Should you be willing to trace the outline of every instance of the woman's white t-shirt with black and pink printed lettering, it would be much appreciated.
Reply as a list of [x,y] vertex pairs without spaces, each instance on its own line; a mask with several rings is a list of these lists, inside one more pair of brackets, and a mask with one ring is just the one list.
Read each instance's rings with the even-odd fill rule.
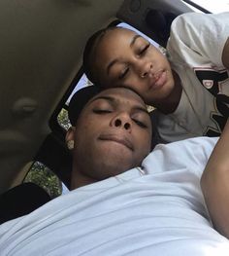
[[229,115],[218,97],[226,95],[229,103],[229,72],[221,60],[228,37],[229,13],[188,13],[173,21],[167,51],[183,91],[173,114],[157,112],[163,142],[221,133]]

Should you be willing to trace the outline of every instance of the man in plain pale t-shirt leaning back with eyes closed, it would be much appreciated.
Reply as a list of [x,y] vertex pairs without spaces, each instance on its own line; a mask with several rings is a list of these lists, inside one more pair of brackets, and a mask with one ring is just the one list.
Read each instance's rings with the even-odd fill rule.
[[228,124],[148,154],[134,91],[82,89],[69,116],[71,192],[1,225],[0,255],[228,256]]

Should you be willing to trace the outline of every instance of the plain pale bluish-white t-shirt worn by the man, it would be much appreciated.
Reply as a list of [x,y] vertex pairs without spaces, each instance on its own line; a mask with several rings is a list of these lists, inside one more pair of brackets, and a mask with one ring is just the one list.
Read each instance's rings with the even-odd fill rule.
[[228,256],[200,177],[216,138],[158,145],[118,176],[83,186],[0,226],[0,255]]

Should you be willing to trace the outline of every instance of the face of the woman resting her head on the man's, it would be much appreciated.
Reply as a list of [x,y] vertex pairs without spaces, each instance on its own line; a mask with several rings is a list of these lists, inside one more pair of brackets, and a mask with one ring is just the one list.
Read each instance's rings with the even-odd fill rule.
[[107,31],[93,54],[93,73],[105,88],[131,88],[151,105],[164,101],[174,89],[167,58],[131,30]]

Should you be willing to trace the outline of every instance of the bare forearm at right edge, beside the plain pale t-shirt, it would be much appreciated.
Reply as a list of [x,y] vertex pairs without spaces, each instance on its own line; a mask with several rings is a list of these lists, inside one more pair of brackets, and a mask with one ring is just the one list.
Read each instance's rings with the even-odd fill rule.
[[201,187],[214,228],[229,238],[229,121],[203,172]]

